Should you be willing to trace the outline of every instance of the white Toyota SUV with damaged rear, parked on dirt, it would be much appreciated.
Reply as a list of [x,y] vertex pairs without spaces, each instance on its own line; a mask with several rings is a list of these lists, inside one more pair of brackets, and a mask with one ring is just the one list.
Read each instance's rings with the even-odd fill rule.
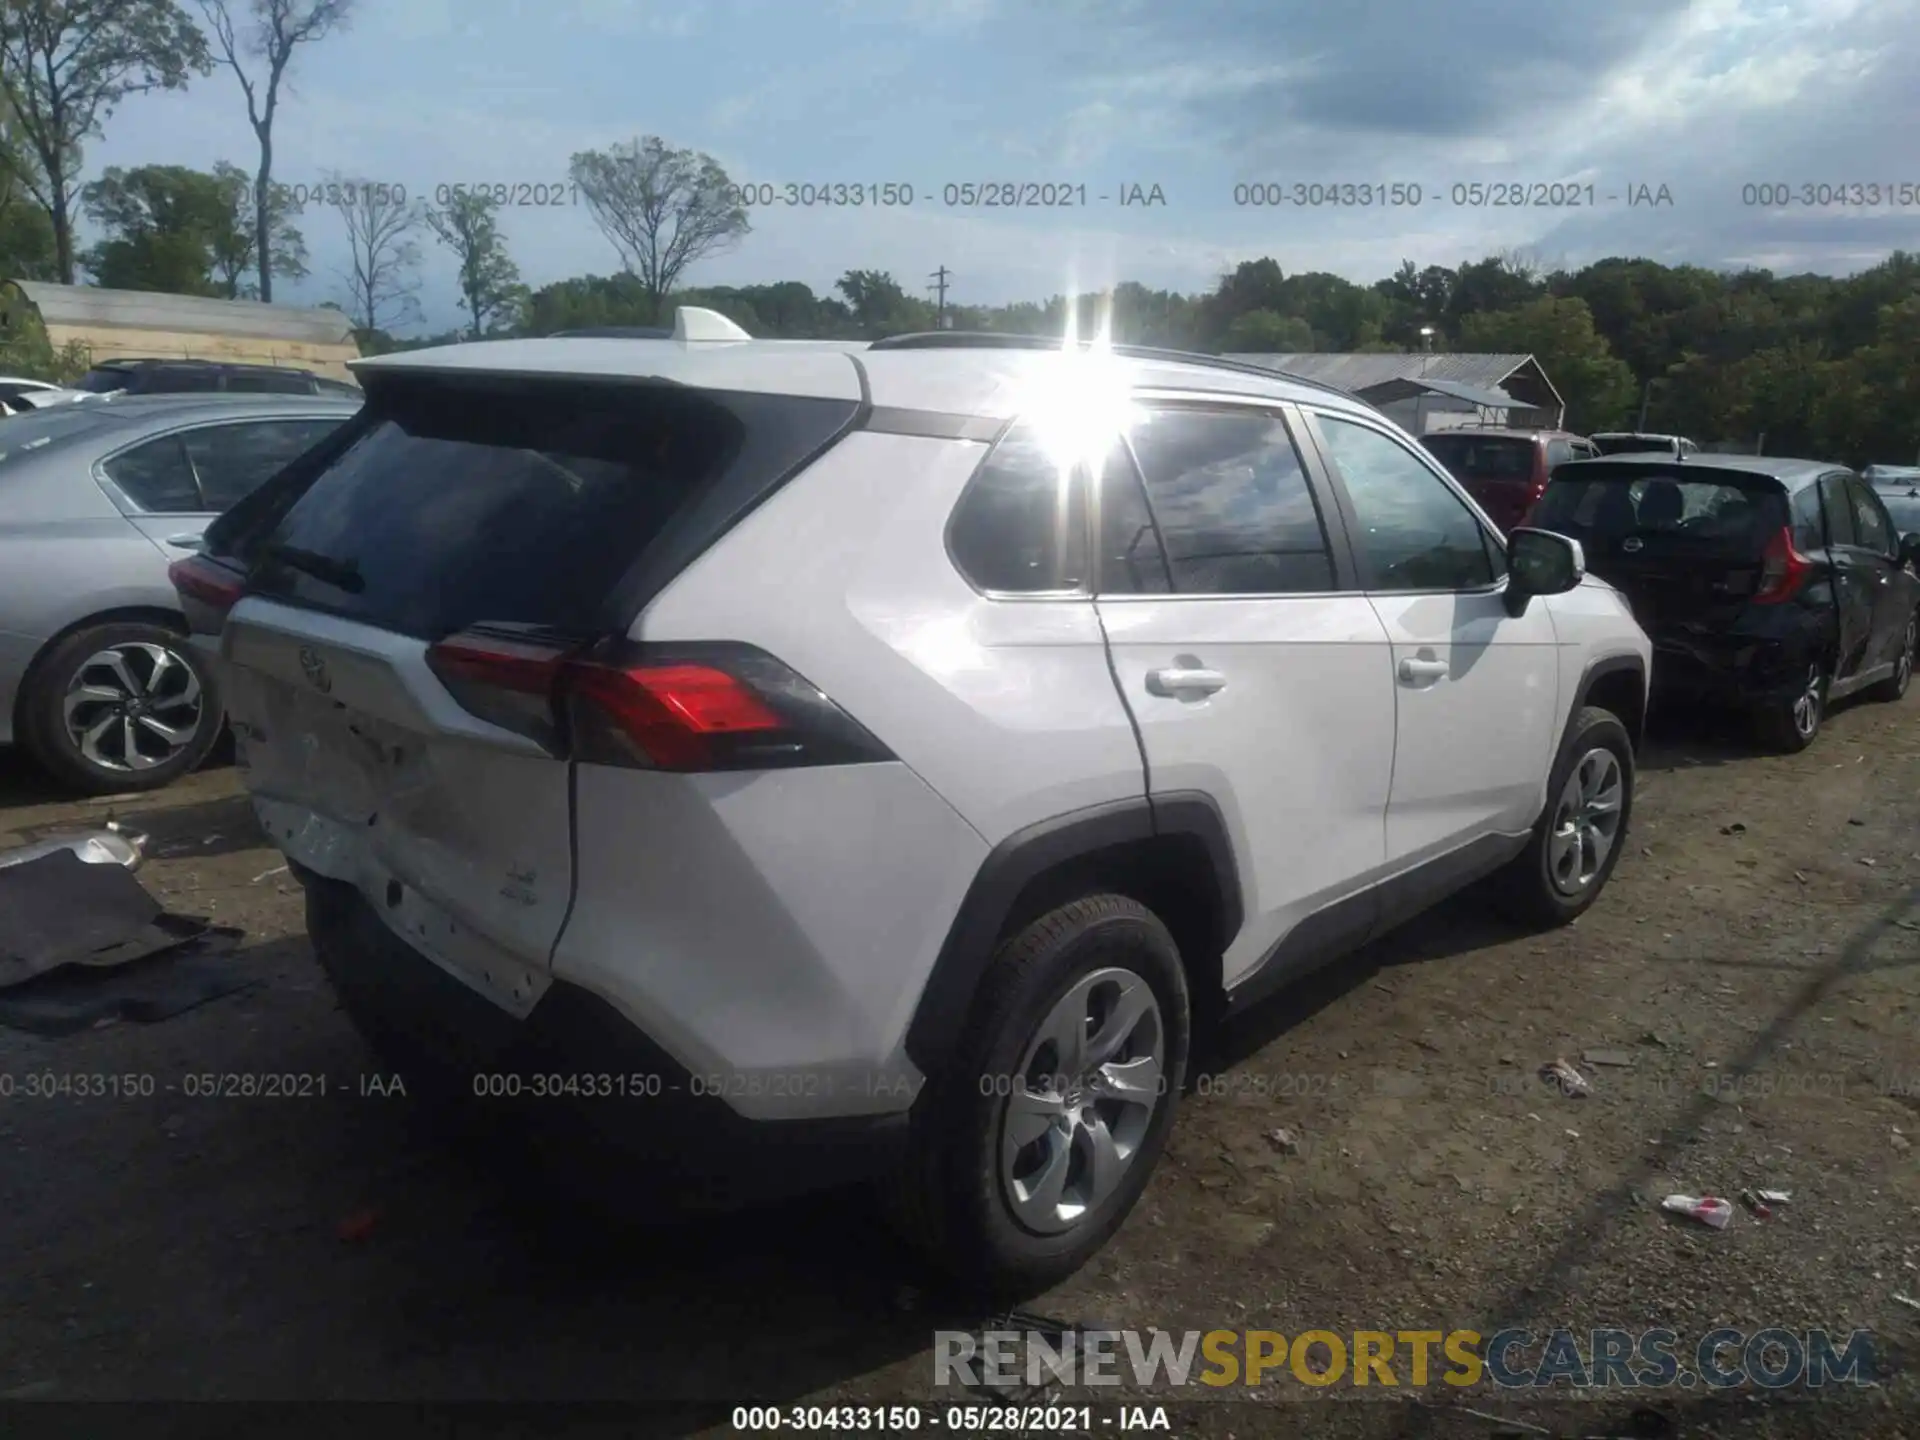
[[674,1202],[883,1175],[1031,1288],[1135,1204],[1196,1025],[1471,881],[1548,925],[1607,883],[1647,639],[1371,407],[701,332],[363,361],[175,566],[390,1062]]

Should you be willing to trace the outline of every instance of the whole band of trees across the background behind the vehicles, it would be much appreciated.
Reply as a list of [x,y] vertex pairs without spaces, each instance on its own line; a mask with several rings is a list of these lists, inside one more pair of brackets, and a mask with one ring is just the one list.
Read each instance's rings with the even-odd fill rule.
[[[486,188],[442,188],[428,205],[351,175],[284,186],[275,180],[284,81],[303,46],[346,29],[353,0],[194,4],[198,15],[179,0],[0,0],[0,276],[273,300],[275,278],[307,278],[301,227],[317,207],[334,211],[351,255],[330,303],[369,351],[662,324],[680,303],[770,338],[937,324],[931,301],[883,271],[851,269],[828,294],[799,280],[693,286],[691,273],[753,227],[718,161],[659,136],[572,156],[570,184],[618,267],[538,288],[522,282],[497,223],[501,196]],[[238,83],[257,140],[246,167],[84,179],[84,146],[127,98],[215,71]],[[92,244],[79,240],[83,217]],[[419,319],[422,240],[451,253],[467,319],[451,334],[399,340]],[[1764,438],[1768,453],[1855,465],[1920,457],[1920,257],[1905,252],[1845,278],[1632,257],[1546,271],[1490,255],[1404,261],[1373,284],[1254,259],[1204,294],[1125,282],[1100,296],[954,305],[947,319],[1018,334],[1098,324],[1116,342],[1215,353],[1530,353],[1576,430],[1644,420],[1707,444]],[[0,361],[56,365],[17,346]]]

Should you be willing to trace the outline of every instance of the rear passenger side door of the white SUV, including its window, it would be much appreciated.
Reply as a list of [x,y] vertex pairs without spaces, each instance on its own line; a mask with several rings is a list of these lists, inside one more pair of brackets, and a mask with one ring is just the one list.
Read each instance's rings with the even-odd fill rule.
[[[1386,632],[1296,424],[1284,405],[1150,401],[1131,436],[1139,474],[1121,455],[1096,499],[1096,605],[1150,791],[1215,797],[1240,860],[1229,985],[1386,860]],[[1336,914],[1344,939],[1371,927],[1365,902]]]

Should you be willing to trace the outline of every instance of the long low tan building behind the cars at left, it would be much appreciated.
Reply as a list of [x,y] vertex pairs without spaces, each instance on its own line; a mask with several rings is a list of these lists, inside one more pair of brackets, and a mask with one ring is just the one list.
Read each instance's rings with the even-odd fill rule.
[[83,344],[104,359],[207,359],[284,365],[349,380],[359,359],[353,323],[336,309],[261,305],[146,290],[100,290],[44,280],[0,284],[0,332],[29,321],[56,349]]

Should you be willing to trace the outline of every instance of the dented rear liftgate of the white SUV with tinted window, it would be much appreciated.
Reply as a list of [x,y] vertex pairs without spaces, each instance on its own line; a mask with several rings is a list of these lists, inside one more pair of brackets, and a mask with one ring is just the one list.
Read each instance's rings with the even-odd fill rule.
[[[849,374],[849,384],[852,376]],[[841,432],[856,399],[384,374],[351,445],[209,538],[255,806],[292,858],[520,1014],[572,893],[553,659],[612,597]],[[728,509],[735,507],[735,509]],[[712,528],[712,526],[710,526]]]

